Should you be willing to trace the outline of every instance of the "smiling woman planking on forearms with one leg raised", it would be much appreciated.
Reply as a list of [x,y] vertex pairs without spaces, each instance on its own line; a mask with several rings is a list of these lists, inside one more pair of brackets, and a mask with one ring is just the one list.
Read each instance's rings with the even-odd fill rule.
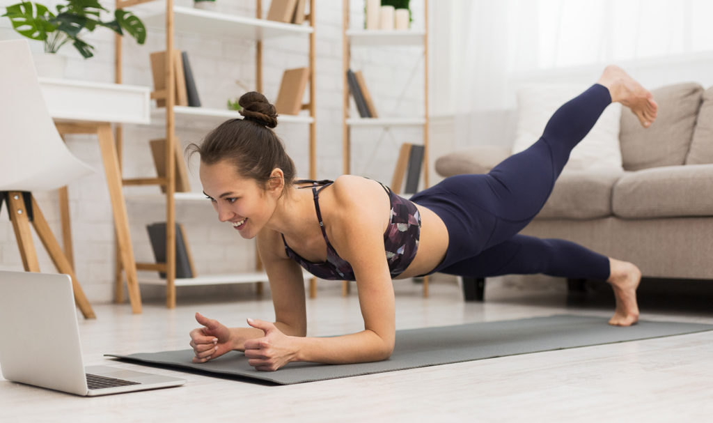
[[[294,164],[270,128],[275,108],[260,93],[240,98],[244,120],[222,123],[189,148],[200,153],[203,192],[221,222],[243,238],[257,237],[270,278],[276,322],[248,319],[228,328],[196,314],[190,332],[194,362],[245,351],[257,370],[288,362],[385,360],[394,349],[392,279],[444,272],[470,277],[545,273],[607,280],[616,297],[611,325],[637,322],[640,270],[565,240],[518,232],[547,200],[569,153],[608,104],[631,108],[643,126],[656,118],[651,93],[609,66],[595,85],[550,118],[542,138],[487,175],[457,175],[410,200],[352,175],[294,181]],[[389,210],[391,210],[389,212]],[[356,280],[364,330],[306,337],[300,265],[318,277]]]

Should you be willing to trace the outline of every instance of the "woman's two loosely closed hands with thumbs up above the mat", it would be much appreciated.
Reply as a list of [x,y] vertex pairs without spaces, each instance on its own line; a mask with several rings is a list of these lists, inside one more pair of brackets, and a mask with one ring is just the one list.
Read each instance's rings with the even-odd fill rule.
[[[200,313],[195,313],[195,320],[203,327],[190,332],[194,363],[205,363],[237,349],[240,341],[235,340],[230,328]],[[292,337],[284,335],[274,323],[247,319],[247,324],[264,332],[263,337],[243,342],[247,362],[255,370],[275,371],[294,360],[296,351],[292,348]]]

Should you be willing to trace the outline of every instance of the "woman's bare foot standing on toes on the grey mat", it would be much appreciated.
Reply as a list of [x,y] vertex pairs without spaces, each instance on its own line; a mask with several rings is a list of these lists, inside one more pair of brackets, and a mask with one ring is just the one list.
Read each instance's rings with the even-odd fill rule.
[[607,282],[612,285],[617,300],[614,317],[610,325],[631,326],[639,320],[639,306],[636,302],[636,288],[641,281],[641,270],[632,263],[609,259],[610,277]]

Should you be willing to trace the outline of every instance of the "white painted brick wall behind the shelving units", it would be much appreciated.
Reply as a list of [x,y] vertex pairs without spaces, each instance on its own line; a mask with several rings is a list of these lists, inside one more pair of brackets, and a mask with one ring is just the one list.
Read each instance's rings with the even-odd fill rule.
[[[0,6],[16,1],[0,1]],[[49,3],[49,2],[43,2]],[[113,1],[103,1],[112,6]],[[175,4],[190,6],[190,0],[176,0]],[[423,28],[421,1],[412,1],[414,26]],[[263,1],[267,14],[270,1]],[[254,16],[254,1],[217,0],[217,10],[226,14]],[[352,1],[352,26],[363,23],[363,3]],[[17,38],[7,29],[6,18],[0,19],[0,39]],[[67,46],[61,51],[68,57],[67,78],[89,81],[113,82],[113,33],[99,29],[86,36],[96,46],[95,57],[83,60]],[[151,31],[144,46],[133,40],[124,41],[123,79],[125,83],[151,86],[149,54],[163,50],[165,35]],[[210,39],[177,34],[177,49],[188,51],[190,64],[204,106],[223,108],[228,98],[237,98],[247,87],[255,86],[255,46],[241,40]],[[307,66],[307,37],[278,39],[264,43],[264,92],[274,101],[279,80],[285,68]],[[422,50],[352,49],[352,68],[361,69],[374,97],[376,108],[382,116],[419,116],[423,114],[423,57]],[[342,2],[317,0],[317,178],[336,178],[342,173]],[[394,78],[396,76],[396,78]],[[353,106],[352,106],[353,107]],[[352,113],[355,114],[355,111]],[[177,135],[183,146],[198,142],[210,127],[179,122]],[[307,177],[308,128],[299,124],[282,124],[277,128],[287,151],[297,165],[299,175]],[[148,141],[164,138],[163,123],[150,126],[124,126],[123,167],[125,178],[155,175]],[[391,181],[391,171],[399,144],[404,141],[421,142],[418,129],[373,129],[352,131],[352,173],[370,178]],[[99,172],[72,183],[70,205],[76,274],[91,302],[108,302],[113,297],[114,233],[111,204],[103,175],[103,166],[96,139],[91,136],[68,136],[68,147],[82,160],[95,166]],[[434,156],[431,156],[433,159]],[[192,190],[200,192],[198,168],[190,169]],[[128,187],[125,193],[158,193],[158,187]],[[38,193],[52,230],[60,234],[56,193]],[[145,225],[164,220],[164,205],[160,202],[128,202],[130,230],[135,256],[138,261],[153,261]],[[255,243],[243,240],[232,228],[217,222],[210,203],[179,203],[177,221],[185,225],[190,248],[198,273],[225,273],[251,270],[255,264]],[[36,238],[35,238],[36,239]],[[41,269],[54,271],[51,261],[43,252],[39,240]],[[14,233],[4,207],[0,213],[0,269],[21,270],[21,260],[16,248]],[[163,297],[163,289],[142,287],[145,298]],[[245,290],[246,287],[235,287]],[[179,290],[190,294],[207,291],[206,288]]]

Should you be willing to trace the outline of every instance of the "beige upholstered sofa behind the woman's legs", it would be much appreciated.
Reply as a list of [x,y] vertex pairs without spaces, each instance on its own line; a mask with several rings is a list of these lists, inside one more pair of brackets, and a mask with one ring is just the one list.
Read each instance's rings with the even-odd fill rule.
[[[622,108],[624,171],[568,171],[522,233],[572,240],[640,267],[644,277],[713,280],[713,87],[682,83],[652,91],[648,129]],[[487,173],[511,148],[481,147],[438,158],[443,176]],[[483,280],[464,281],[482,300]],[[573,287],[570,281],[570,287]],[[466,286],[477,283],[480,289]]]

